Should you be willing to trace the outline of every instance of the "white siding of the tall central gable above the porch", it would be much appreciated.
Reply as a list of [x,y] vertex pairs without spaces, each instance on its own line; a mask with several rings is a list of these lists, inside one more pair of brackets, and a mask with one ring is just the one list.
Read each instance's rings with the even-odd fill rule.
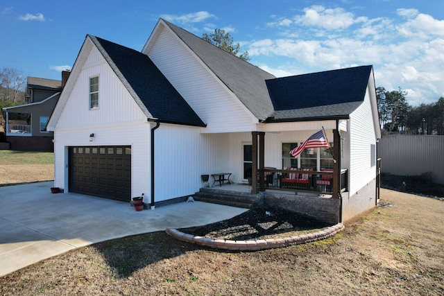
[[253,114],[167,28],[146,54],[207,124],[202,132],[255,130]]

